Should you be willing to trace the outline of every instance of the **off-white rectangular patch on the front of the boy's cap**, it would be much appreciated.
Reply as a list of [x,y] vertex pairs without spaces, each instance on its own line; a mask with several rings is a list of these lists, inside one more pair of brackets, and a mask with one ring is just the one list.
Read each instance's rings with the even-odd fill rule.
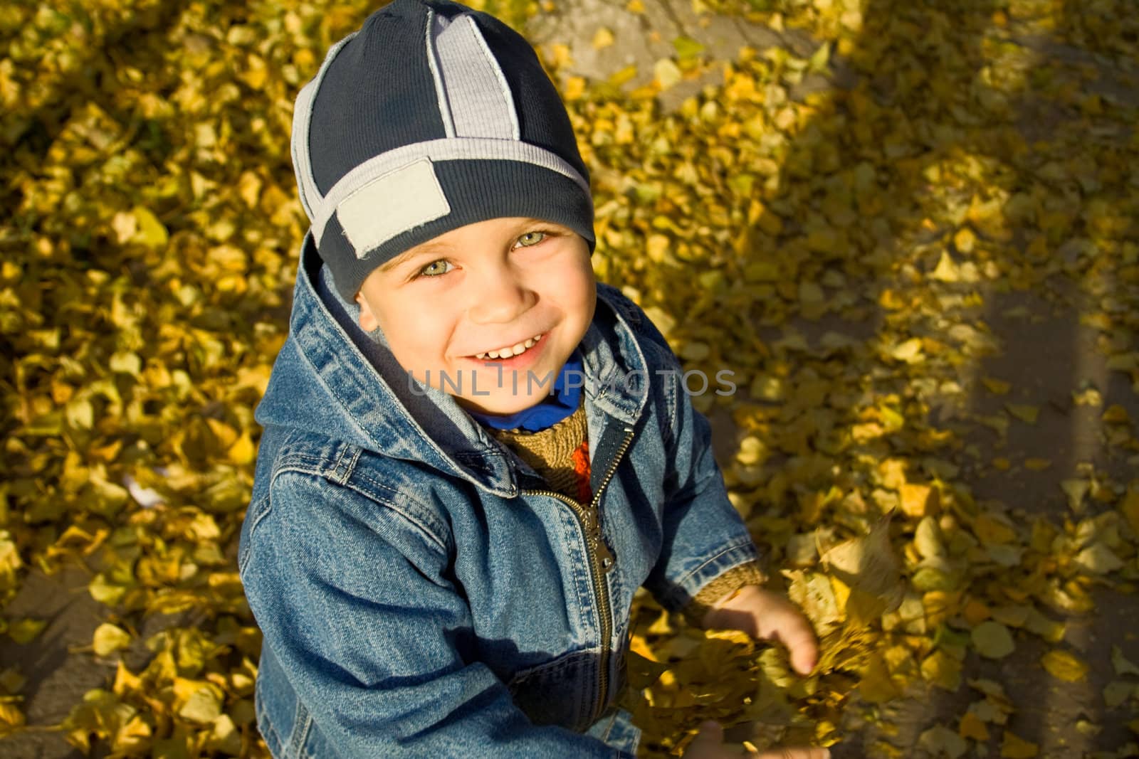
[[428,158],[377,176],[336,206],[345,237],[363,258],[396,234],[451,213]]

